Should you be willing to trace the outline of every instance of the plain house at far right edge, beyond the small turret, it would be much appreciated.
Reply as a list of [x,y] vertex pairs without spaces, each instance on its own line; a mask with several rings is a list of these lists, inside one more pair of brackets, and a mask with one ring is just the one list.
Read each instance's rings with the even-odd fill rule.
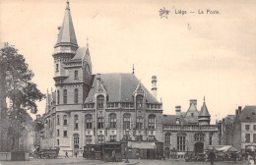
[[256,147],[256,106],[238,107],[235,115],[223,119],[222,144],[244,151]]

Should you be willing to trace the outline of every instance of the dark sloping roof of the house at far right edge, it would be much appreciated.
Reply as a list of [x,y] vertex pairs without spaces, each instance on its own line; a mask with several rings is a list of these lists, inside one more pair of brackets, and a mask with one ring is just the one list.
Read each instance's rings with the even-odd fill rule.
[[255,122],[256,121],[256,106],[245,106],[239,114],[241,122]]

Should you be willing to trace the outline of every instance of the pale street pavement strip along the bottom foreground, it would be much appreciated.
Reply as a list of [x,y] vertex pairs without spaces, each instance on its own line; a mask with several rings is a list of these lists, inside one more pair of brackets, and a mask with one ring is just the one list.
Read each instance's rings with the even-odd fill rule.
[[[34,159],[30,161],[0,161],[0,165],[65,165],[65,164],[86,164],[86,165],[210,165],[210,162],[185,162],[184,160],[146,160],[132,159],[125,162],[104,162],[100,160],[88,160],[83,157],[78,158],[56,158],[56,159]],[[215,165],[233,165],[234,162],[216,162]],[[236,162],[235,165],[247,165],[246,161]]]

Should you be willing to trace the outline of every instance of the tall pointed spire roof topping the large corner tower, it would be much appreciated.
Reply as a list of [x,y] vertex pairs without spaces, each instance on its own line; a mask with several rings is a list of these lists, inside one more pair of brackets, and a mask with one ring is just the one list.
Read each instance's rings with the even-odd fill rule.
[[58,40],[55,47],[59,45],[73,45],[75,47],[78,47],[75,29],[73,27],[73,22],[70,14],[69,1],[67,1],[63,24],[59,30]]

